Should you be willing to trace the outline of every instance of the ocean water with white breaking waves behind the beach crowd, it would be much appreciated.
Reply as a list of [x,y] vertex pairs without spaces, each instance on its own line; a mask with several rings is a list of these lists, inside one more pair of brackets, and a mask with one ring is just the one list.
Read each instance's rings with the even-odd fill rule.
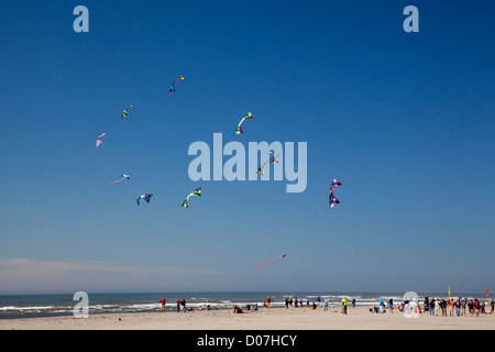
[[[302,305],[312,305],[320,297],[323,302],[324,297],[329,298],[330,307],[340,307],[342,297],[348,297],[351,301],[355,299],[355,305],[373,306],[381,299],[394,304],[403,301],[404,293],[121,293],[121,294],[91,294],[88,293],[88,314],[124,314],[124,312],[146,312],[160,311],[162,304],[160,300],[165,297],[166,311],[177,311],[177,299],[186,299],[186,309],[199,309],[210,306],[210,309],[232,309],[234,305],[244,308],[246,305],[257,304],[260,308],[266,297],[272,299],[272,307],[285,307],[285,298],[293,297],[302,299]],[[422,302],[425,296],[443,297],[443,294],[418,293],[419,301]],[[452,296],[479,298],[486,300],[483,295],[462,294]],[[75,306],[79,299],[74,300],[74,294],[54,295],[0,295],[0,319],[32,318],[32,317],[57,317],[74,315]]]

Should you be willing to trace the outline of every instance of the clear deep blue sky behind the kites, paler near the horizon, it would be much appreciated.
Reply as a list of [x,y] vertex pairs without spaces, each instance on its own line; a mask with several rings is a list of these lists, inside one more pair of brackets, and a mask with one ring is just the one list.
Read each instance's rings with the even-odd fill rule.
[[[78,4],[89,33],[73,30]],[[418,33],[403,30],[409,4]],[[493,10],[3,4],[0,294],[495,287]],[[213,133],[307,142],[306,190],[191,182],[188,147],[212,147]],[[131,179],[109,184],[122,173]],[[341,204],[330,210],[332,178]]]

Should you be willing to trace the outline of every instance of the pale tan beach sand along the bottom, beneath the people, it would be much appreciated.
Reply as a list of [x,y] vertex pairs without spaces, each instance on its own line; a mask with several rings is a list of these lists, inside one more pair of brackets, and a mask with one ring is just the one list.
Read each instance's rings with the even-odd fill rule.
[[370,307],[323,311],[308,308],[261,308],[249,314],[230,310],[90,314],[52,318],[0,320],[0,330],[495,330],[495,315],[406,318],[399,310],[372,314]]

